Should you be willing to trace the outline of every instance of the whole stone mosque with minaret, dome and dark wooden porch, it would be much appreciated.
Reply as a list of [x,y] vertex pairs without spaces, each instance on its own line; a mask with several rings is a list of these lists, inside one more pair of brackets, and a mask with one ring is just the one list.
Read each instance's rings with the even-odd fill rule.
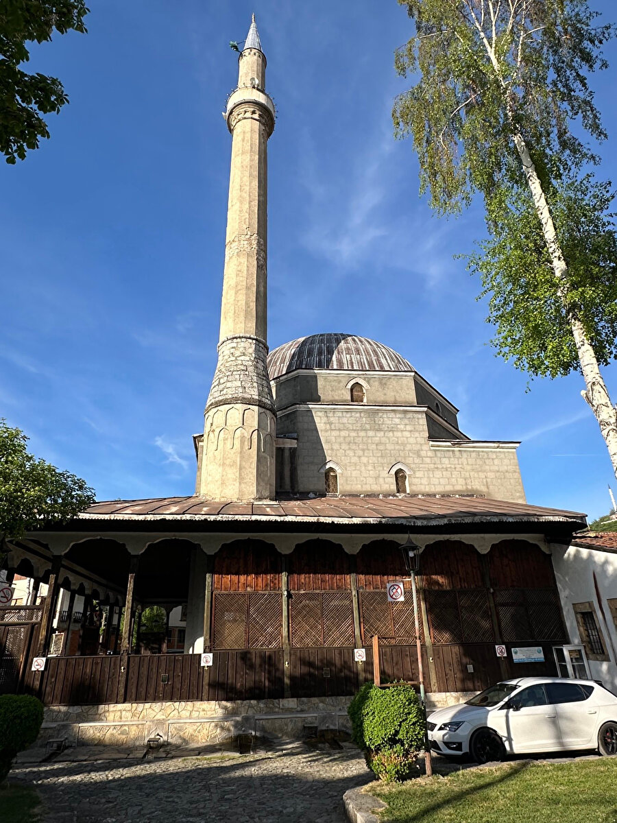
[[[48,586],[23,607],[16,688],[79,742],[295,733],[311,713],[336,726],[377,664],[383,681],[417,681],[408,540],[434,704],[554,673],[568,643],[550,552],[585,517],[527,504],[517,443],[467,437],[381,342],[326,332],[268,354],[266,63],[253,16],[225,111],[220,338],[194,495],[99,502],[12,546],[12,571]],[[182,617],[173,650],[167,634],[139,644],[154,605]]]

